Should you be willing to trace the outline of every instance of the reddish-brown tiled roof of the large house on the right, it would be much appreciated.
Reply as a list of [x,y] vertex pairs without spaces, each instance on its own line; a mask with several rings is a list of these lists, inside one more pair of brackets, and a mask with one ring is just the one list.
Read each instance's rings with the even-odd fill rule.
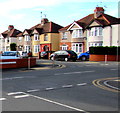
[[[89,14],[88,16],[86,16],[86,17],[84,17],[84,18],[82,18],[82,19],[80,19],[78,21],[75,21],[75,22],[77,24],[79,24],[83,29],[86,29],[94,21],[96,21],[97,23],[99,23],[102,26],[120,24],[120,19],[119,18],[110,16],[110,15],[107,15],[107,14],[104,14],[104,13],[101,14],[98,18],[94,17],[94,13]],[[66,27],[64,27],[62,29],[59,29],[59,31],[67,30],[72,24],[70,24],[70,25],[68,25],[68,26],[66,26]]]

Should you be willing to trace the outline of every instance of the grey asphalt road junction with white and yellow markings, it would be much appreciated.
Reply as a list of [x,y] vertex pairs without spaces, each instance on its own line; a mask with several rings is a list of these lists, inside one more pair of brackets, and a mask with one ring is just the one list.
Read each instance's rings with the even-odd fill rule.
[[105,86],[105,83],[118,77],[118,63],[55,63],[64,67],[4,71],[0,98],[2,110],[118,113],[118,91],[114,86]]

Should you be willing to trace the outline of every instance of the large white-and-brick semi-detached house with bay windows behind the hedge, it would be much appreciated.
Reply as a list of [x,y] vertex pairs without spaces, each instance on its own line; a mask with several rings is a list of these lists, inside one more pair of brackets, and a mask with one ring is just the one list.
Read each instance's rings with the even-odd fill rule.
[[96,7],[93,14],[59,30],[60,49],[79,54],[91,46],[120,46],[119,27],[119,18],[105,14],[103,7]]

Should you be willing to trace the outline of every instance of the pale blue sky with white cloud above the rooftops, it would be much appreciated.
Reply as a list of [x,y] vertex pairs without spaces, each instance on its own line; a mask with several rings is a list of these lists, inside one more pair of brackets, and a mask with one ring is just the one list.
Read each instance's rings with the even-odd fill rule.
[[[84,1],[84,2],[82,2]],[[118,17],[119,0],[0,0],[0,33],[14,25],[23,31],[40,23],[42,17],[67,26],[104,7],[105,13]]]

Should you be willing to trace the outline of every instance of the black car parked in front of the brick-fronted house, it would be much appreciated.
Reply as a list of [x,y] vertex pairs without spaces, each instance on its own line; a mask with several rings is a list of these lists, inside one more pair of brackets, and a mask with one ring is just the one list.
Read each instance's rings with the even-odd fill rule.
[[72,50],[61,50],[61,51],[56,51],[53,54],[51,54],[50,59],[51,60],[76,61],[77,54]]

